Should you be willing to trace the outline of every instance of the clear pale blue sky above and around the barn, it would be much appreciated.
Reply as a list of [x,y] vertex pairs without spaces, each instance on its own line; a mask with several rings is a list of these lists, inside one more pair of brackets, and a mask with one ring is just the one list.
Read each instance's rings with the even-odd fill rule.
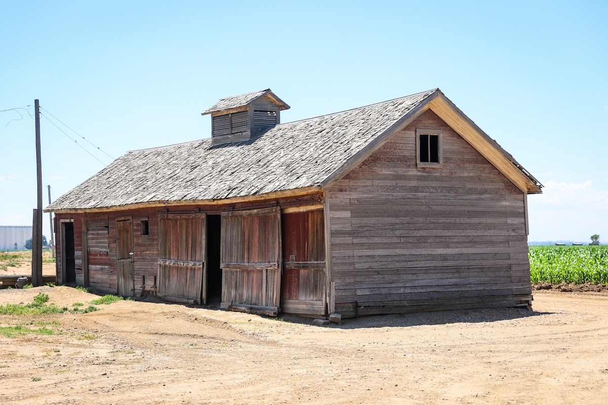
[[[46,110],[46,205],[111,162],[49,114],[117,158],[209,137],[230,95],[271,88],[286,122],[439,87],[544,183],[530,240],[608,241],[606,21],[605,1],[5,2],[0,110]],[[25,108],[0,112],[0,225],[32,223]]]

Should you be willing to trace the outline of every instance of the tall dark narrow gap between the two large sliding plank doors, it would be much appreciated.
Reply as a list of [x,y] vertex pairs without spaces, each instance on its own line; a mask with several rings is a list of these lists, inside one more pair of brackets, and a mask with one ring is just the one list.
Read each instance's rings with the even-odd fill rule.
[[222,298],[220,215],[207,215],[207,304],[219,304]]

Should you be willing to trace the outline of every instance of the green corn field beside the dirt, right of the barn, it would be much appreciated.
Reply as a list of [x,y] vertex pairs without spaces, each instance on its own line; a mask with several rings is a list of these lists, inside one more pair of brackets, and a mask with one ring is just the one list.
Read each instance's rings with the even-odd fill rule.
[[608,284],[608,245],[531,246],[532,284]]

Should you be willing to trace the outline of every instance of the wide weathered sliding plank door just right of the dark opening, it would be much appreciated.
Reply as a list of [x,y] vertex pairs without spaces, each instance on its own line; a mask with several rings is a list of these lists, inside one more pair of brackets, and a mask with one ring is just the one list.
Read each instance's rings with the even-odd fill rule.
[[280,311],[280,213],[278,207],[222,213],[222,308]]

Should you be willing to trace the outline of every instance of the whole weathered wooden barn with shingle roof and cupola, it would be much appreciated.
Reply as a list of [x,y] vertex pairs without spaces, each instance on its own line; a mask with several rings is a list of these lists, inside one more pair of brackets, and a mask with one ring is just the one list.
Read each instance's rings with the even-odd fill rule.
[[542,185],[439,89],[288,108],[224,98],[211,139],[128,152],[49,205],[57,282],[306,316],[531,304]]

